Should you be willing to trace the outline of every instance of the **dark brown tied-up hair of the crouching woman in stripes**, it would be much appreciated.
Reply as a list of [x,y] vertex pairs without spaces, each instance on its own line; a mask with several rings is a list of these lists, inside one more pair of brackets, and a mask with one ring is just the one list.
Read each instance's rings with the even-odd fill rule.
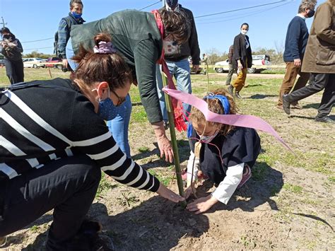
[[[99,46],[99,42],[102,41],[111,42],[110,35],[105,33],[95,35],[95,45]],[[79,54],[72,59],[78,63],[78,68],[71,74],[72,81],[78,79],[86,86],[106,81],[111,90],[123,88],[132,81],[129,67],[116,53],[94,53],[93,50],[88,51],[81,45]]]

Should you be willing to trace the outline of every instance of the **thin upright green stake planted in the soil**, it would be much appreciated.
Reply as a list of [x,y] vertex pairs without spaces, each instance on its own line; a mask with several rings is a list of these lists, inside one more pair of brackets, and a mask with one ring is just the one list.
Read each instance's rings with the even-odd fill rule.
[[[163,78],[163,86],[167,86],[167,76],[162,71],[162,78]],[[177,185],[179,189],[180,196],[184,197],[184,187],[182,185],[182,170],[180,170],[180,161],[179,161],[179,153],[178,153],[178,145],[177,145],[177,138],[175,132],[175,122],[173,121],[173,114],[172,114],[172,103],[170,96],[164,93],[165,95],[165,105],[167,110],[167,117],[169,117],[169,124],[170,124],[170,134],[171,134],[171,143],[172,143],[172,151],[175,160],[175,172],[177,177]],[[186,207],[187,203],[181,202],[182,207]]]

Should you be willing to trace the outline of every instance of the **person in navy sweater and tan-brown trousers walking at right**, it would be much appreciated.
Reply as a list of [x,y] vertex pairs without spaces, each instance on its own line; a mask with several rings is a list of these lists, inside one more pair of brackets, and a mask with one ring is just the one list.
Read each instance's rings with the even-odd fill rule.
[[[283,95],[290,93],[297,75],[299,75],[299,78],[297,83],[295,83],[293,91],[306,86],[308,79],[310,79],[310,73],[302,72],[301,66],[309,35],[305,20],[314,16],[316,4],[316,0],[302,0],[298,8],[298,15],[288,24],[285,51],[283,54],[283,59],[286,63],[286,72],[279,90],[279,98],[276,106],[278,109],[283,110]],[[298,102],[293,103],[291,106],[296,109],[302,109]]]

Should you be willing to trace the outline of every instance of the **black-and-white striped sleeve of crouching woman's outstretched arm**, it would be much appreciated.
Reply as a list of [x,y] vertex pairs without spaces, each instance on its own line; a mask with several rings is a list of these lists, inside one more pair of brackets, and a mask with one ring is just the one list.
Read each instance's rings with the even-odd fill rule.
[[[76,151],[85,153],[110,177],[124,185],[156,192],[160,186],[157,178],[136,164],[121,151],[105,122],[93,110],[86,116],[74,110],[69,137]],[[89,117],[89,119],[88,119]],[[83,128],[83,124],[88,124]],[[80,127],[80,128],[78,128]]]

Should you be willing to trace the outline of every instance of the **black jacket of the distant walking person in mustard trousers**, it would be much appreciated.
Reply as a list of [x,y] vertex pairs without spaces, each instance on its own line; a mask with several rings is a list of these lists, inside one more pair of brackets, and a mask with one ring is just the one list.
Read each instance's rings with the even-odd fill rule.
[[237,69],[237,60],[241,60],[243,68],[246,67],[245,62],[247,62],[247,68],[252,66],[252,50],[249,42],[249,47],[245,48],[245,37],[249,42],[249,37],[247,35],[239,34],[234,38],[234,53],[233,53],[233,69]]

